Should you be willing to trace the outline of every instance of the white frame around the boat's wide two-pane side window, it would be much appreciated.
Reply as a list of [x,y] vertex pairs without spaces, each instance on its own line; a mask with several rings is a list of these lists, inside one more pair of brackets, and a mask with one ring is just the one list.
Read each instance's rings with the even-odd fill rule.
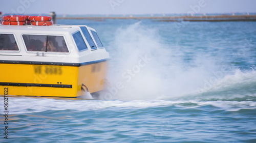
[[[65,40],[65,43],[66,43],[66,46],[69,50],[69,52],[60,52],[60,51],[33,51],[33,50],[28,50],[27,49],[27,46],[26,46],[26,43],[25,43],[25,40],[23,38],[23,35],[37,35],[37,36],[62,36],[63,39]],[[47,54],[70,54],[71,52],[71,49],[69,48],[69,45],[67,44],[67,38],[65,35],[63,34],[35,34],[35,33],[22,33],[20,35],[20,37],[22,38],[22,41],[23,41],[23,45],[25,47],[25,50],[27,53],[47,53]]]

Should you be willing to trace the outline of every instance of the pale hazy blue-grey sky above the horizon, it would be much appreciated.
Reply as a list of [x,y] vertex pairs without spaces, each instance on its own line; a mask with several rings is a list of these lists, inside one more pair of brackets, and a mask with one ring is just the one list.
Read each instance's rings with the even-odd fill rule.
[[0,0],[0,12],[25,14],[256,13],[255,0]]

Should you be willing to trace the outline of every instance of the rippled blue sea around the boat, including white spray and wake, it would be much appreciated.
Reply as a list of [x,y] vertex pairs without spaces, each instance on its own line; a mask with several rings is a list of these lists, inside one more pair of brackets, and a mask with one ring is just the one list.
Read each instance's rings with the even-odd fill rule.
[[256,22],[70,20],[111,61],[95,100],[4,99],[0,142],[256,142]]

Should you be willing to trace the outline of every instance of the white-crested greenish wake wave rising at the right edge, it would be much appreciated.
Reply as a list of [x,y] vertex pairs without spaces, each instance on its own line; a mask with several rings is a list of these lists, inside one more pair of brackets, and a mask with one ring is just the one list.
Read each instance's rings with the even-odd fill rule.
[[222,101],[256,101],[256,71],[242,72],[237,70],[234,74],[210,84],[205,82],[196,93],[186,95],[185,99],[222,100]]

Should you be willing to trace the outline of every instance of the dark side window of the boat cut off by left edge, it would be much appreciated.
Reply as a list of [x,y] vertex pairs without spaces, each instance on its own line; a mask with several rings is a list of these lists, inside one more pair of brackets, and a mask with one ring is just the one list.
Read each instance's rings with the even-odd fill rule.
[[0,50],[18,50],[13,34],[0,34]]

